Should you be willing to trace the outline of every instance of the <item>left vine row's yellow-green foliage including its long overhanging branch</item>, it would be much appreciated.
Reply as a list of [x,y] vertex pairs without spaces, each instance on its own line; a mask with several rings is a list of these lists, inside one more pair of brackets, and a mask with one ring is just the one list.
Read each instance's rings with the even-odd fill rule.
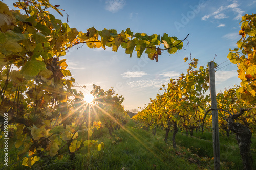
[[[137,57],[145,52],[151,60],[158,61],[162,54],[161,36],[134,34],[130,28],[120,33],[114,29],[98,31],[94,27],[81,32],[50,14],[49,8],[63,16],[57,9],[58,5],[54,6],[48,0],[19,1],[13,5],[19,10],[10,11],[0,2],[0,111],[7,112],[17,127],[14,130],[16,138],[9,140],[19,149],[17,159],[22,159],[24,166],[31,167],[40,159],[33,154],[40,151],[44,156],[54,157],[62,154],[63,145],[68,145],[70,152],[75,153],[81,149],[81,142],[83,147],[102,150],[104,143],[84,142],[82,136],[83,139],[78,141],[78,135],[82,134],[78,129],[86,129],[91,136],[93,128],[127,122],[128,116],[121,105],[124,98],[114,95],[113,89],[104,91],[99,88],[98,99],[108,103],[99,105],[116,120],[98,110],[104,122],[94,121],[92,117],[93,126],[88,128],[87,114],[81,113],[86,110],[81,104],[82,94],[72,89],[75,79],[67,69],[66,59],[61,57],[71,47],[86,43],[89,48],[111,47],[115,52],[122,47],[130,57],[134,50]],[[164,34],[163,39],[168,39],[166,41],[172,48],[174,38]],[[80,108],[77,109],[76,105]],[[32,148],[35,149],[33,152],[30,151]],[[30,156],[26,157],[28,152]],[[58,159],[62,158],[63,155],[58,155]]]

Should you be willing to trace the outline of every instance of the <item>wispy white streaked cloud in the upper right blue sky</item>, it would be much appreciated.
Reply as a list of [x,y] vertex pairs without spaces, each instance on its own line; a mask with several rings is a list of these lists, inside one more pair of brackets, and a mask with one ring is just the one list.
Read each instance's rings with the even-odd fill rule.
[[224,12],[228,11],[228,10],[232,10],[234,12],[234,14],[236,15],[236,17],[234,17],[234,20],[239,20],[241,19],[241,17],[243,16],[245,11],[242,11],[239,7],[239,4],[237,4],[236,2],[233,2],[230,5],[227,6],[221,6],[219,7],[215,12],[205,15],[203,16],[201,19],[206,21],[207,19],[209,19],[211,16],[214,16],[215,19],[224,19],[224,18],[228,18],[228,16],[226,16],[224,14]]

